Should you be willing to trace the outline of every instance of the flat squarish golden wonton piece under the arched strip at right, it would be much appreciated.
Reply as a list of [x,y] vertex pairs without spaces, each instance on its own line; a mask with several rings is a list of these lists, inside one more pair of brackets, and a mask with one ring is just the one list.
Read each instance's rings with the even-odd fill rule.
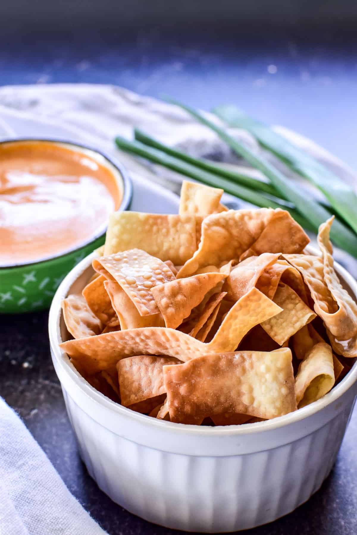
[[279,284],[274,303],[283,309],[282,312],[265,320],[261,326],[280,346],[303,325],[307,325],[316,318],[315,312],[286,284]]

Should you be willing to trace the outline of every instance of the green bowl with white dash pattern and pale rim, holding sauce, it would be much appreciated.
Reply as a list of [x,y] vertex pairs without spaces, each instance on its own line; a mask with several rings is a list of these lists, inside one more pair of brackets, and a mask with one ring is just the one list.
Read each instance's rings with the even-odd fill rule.
[[[54,139],[19,139],[5,140],[2,143],[16,141],[46,141],[90,155],[102,165],[107,166],[115,175],[122,193],[119,211],[130,208],[132,199],[132,182],[127,172],[118,162],[114,162],[103,152],[77,143]],[[99,228],[97,234],[65,254],[42,259],[30,264],[16,264],[0,268],[0,314],[33,312],[49,308],[56,289],[66,274],[85,256],[103,245],[106,228]]]

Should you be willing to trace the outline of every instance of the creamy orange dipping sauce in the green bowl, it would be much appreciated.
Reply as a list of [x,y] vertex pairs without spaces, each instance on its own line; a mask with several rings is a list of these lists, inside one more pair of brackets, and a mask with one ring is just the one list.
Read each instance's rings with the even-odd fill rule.
[[105,232],[123,197],[97,153],[49,141],[0,143],[0,266],[40,261]]

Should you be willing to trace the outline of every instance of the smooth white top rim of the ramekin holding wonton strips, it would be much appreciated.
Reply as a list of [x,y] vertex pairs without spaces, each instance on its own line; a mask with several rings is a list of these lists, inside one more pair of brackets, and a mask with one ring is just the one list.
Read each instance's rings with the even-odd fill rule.
[[[321,256],[320,252],[312,246],[307,246],[307,251],[310,254],[316,256]],[[284,427],[290,424],[300,422],[301,420],[307,419],[310,416],[313,416],[317,412],[322,411],[325,407],[331,405],[333,402],[338,400],[345,392],[348,391],[357,381],[357,360],[353,364],[351,370],[346,374],[346,376],[340,381],[340,383],[331,389],[330,392],[325,394],[322,398],[313,403],[310,403],[306,407],[289,412],[284,416],[279,416],[277,418],[272,418],[263,422],[255,422],[245,425],[226,425],[226,426],[202,426],[202,425],[191,425],[191,424],[179,424],[176,422],[167,422],[159,420],[157,418],[152,418],[145,414],[140,414],[135,412],[127,407],[116,403],[115,401],[110,400],[97,391],[93,386],[89,385],[87,381],[80,375],[80,373],[74,368],[73,364],[69,360],[69,356],[65,353],[64,350],[60,349],[59,343],[62,342],[60,338],[60,329],[59,322],[62,317],[62,308],[61,301],[68,294],[69,288],[74,284],[74,282],[81,276],[81,274],[86,271],[92,264],[92,260],[97,257],[95,251],[88,255],[86,258],[75,266],[64,278],[64,280],[59,285],[57,292],[54,296],[54,299],[51,303],[51,308],[49,312],[49,340],[52,353],[52,359],[56,360],[56,363],[60,366],[62,371],[70,379],[71,383],[75,388],[79,388],[83,394],[89,396],[89,398],[95,403],[100,404],[104,409],[109,409],[112,411],[112,414],[122,415],[126,418],[134,419],[138,424],[148,425],[150,427],[158,427],[162,432],[166,431],[168,433],[186,433],[187,435],[204,435],[204,437],[226,437],[229,436],[239,436],[239,435],[250,435],[255,433],[269,432],[280,427]],[[339,276],[347,283],[353,292],[353,297],[357,301],[357,281],[354,280],[352,275],[347,272],[343,266],[335,262],[335,269]],[[57,370],[56,370],[57,373]],[[58,375],[58,373],[57,373]],[[62,380],[60,379],[62,384]],[[104,422],[101,422],[105,426]]]

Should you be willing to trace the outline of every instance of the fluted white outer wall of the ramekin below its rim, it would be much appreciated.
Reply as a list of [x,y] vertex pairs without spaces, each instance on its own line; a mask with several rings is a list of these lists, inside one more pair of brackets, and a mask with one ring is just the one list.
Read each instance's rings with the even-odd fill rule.
[[329,475],[355,398],[320,429],[245,455],[168,453],[120,437],[63,389],[82,460],[103,492],[168,528],[237,531],[274,521],[307,501]]

